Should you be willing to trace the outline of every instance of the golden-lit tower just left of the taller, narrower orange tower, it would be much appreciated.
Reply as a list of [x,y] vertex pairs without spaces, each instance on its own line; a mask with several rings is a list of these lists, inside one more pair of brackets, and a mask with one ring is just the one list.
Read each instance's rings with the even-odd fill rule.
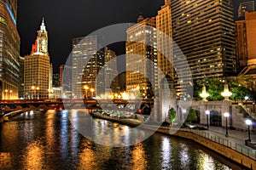
[[[143,19],[142,15],[137,21],[139,25],[131,26],[126,31],[126,90],[129,93],[136,93],[140,89],[143,97],[151,98],[154,93],[153,87],[158,87],[156,21],[155,18]],[[150,59],[153,65],[139,59],[138,56]]]

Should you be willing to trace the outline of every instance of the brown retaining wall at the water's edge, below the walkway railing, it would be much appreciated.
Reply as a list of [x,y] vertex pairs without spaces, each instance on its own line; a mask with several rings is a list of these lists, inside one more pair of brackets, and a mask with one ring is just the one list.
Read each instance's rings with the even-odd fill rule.
[[[130,120],[119,119],[119,118],[114,118],[110,116],[103,116],[100,113],[93,113],[92,116],[96,118],[108,120],[111,122],[119,122],[120,124],[125,124],[131,127],[137,127],[140,124],[140,123],[131,122]],[[149,130],[151,130],[150,127],[145,127],[145,128],[148,128]],[[240,164],[242,167],[247,167],[252,170],[256,169],[256,161],[253,160],[253,158],[245,156],[240,152],[233,150],[223,144],[218,144],[210,139],[206,139],[195,133],[180,131],[180,130],[178,130],[176,133],[170,133],[170,129],[166,127],[159,127],[156,130],[156,132],[163,133],[170,136],[176,136],[178,138],[190,139],[195,143],[201,144],[202,146],[205,146],[206,148],[218,153],[219,155],[228,158],[230,161],[234,161]]]

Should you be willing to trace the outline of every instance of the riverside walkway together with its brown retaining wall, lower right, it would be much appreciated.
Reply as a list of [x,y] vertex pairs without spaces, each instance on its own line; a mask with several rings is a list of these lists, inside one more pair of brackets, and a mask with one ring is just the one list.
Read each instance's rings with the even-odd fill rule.
[[[94,113],[93,115],[98,118],[119,122],[132,127],[136,127],[142,123],[142,121],[132,118],[119,119],[116,117],[102,116],[100,113]],[[152,130],[156,129],[153,125],[143,127]],[[173,130],[176,133],[173,133]],[[226,129],[223,127],[209,127],[207,130],[195,130],[193,128],[174,129],[172,127],[161,126],[157,129],[157,132],[193,140],[228,158],[230,161],[235,161],[240,164],[241,167],[253,170],[256,169],[256,150],[252,147],[248,147],[245,142],[245,140],[248,139],[247,131],[228,129],[229,136],[226,137]],[[252,143],[256,142],[256,134],[251,133],[251,141]]]

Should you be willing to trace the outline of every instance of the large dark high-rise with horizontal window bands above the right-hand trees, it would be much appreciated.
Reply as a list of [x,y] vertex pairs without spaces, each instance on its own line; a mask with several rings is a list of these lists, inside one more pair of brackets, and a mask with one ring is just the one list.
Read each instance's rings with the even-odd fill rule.
[[[176,69],[183,70],[183,60],[179,59],[185,56],[195,80],[236,75],[232,1],[173,0],[171,8],[172,37],[181,49],[173,49]],[[177,78],[178,83],[192,83]]]

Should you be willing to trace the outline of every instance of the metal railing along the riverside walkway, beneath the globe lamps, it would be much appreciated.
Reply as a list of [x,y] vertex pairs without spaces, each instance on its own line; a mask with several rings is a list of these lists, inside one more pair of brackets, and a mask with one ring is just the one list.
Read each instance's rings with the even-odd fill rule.
[[224,139],[218,135],[214,135],[212,133],[207,133],[205,131],[200,131],[200,130],[194,130],[194,129],[187,129],[187,128],[181,128],[179,129],[180,131],[187,131],[190,133],[195,133],[199,136],[202,136],[206,139],[210,139],[218,144],[225,145],[233,150],[236,150],[240,152],[241,154],[251,157],[254,160],[256,160],[256,150],[253,150],[253,148],[247,147],[246,145],[243,144],[237,144],[236,142],[230,140],[230,139]]

